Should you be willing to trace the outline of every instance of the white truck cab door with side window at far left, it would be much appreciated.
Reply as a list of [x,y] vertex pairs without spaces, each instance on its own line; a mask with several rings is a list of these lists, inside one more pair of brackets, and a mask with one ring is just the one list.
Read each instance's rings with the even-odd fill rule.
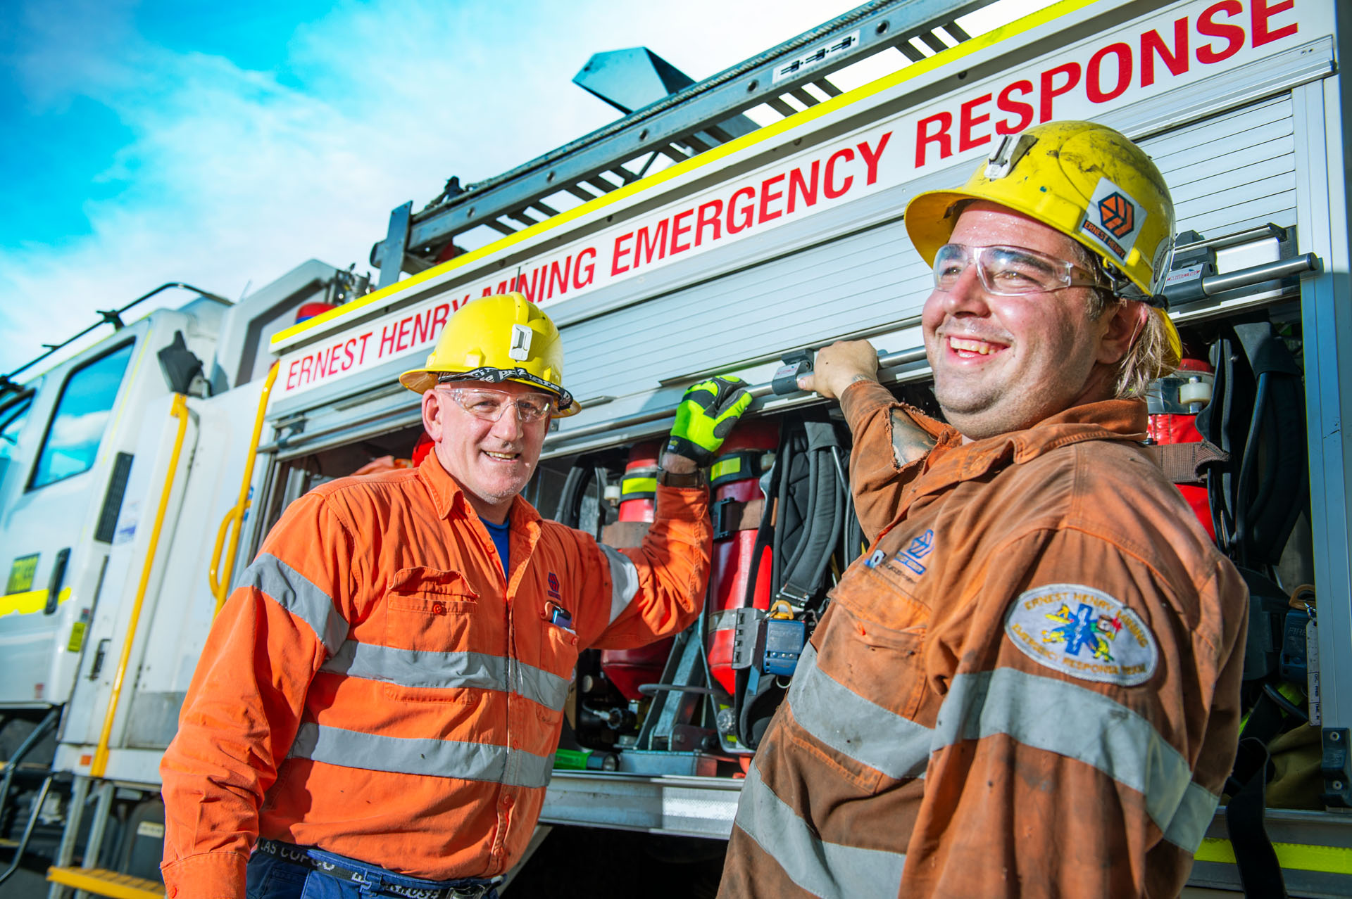
[[42,375],[27,408],[0,412],[0,706],[69,697],[141,414],[168,393],[154,354],[189,321],[160,312],[122,328]]

